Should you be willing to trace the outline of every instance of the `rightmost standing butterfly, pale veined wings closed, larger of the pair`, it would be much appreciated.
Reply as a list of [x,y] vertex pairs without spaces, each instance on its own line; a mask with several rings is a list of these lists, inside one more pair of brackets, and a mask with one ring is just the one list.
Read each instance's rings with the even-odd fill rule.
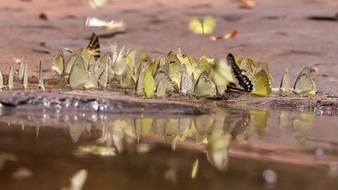
[[311,78],[310,68],[305,67],[299,74],[294,85],[295,94],[314,95],[316,93],[316,84]]

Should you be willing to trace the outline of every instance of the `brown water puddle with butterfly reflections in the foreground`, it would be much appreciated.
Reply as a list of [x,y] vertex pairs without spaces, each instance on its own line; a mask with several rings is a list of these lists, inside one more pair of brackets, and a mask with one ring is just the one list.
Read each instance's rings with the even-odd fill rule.
[[337,116],[211,110],[2,107],[0,189],[337,189]]

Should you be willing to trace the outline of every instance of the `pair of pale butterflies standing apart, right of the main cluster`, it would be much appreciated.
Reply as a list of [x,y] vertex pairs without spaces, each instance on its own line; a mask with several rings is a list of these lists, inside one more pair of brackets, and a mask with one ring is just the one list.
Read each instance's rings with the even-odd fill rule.
[[[282,94],[288,93],[290,90],[289,68],[285,68],[285,72],[281,81],[279,92]],[[293,92],[295,94],[313,96],[316,94],[316,84],[311,77],[311,69],[305,67],[296,79]]]

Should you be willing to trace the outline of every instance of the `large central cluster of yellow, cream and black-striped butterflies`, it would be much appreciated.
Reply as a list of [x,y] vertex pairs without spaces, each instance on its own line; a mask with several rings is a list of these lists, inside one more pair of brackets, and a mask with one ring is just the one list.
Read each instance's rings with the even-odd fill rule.
[[52,70],[60,76],[68,75],[72,89],[105,89],[110,81],[120,81],[121,87],[135,90],[138,96],[164,98],[168,92],[208,98],[226,92],[268,96],[273,84],[267,63],[241,60],[229,54],[227,58],[194,57],[170,52],[167,57],[153,60],[137,50],[118,49],[110,44],[101,59],[99,40],[92,34],[87,48],[69,50],[66,62],[62,49],[52,63]]

